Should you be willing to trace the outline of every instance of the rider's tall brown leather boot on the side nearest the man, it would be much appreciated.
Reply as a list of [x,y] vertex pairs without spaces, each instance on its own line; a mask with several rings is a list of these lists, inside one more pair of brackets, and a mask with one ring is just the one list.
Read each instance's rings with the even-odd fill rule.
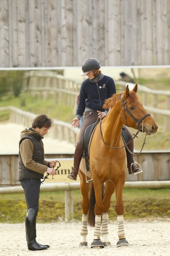
[[80,166],[83,151],[84,151],[84,147],[80,147],[79,144],[77,143],[75,153],[74,153],[74,168],[72,169],[72,172],[67,176],[67,178],[71,180],[77,179],[77,174],[79,171],[79,166]]

